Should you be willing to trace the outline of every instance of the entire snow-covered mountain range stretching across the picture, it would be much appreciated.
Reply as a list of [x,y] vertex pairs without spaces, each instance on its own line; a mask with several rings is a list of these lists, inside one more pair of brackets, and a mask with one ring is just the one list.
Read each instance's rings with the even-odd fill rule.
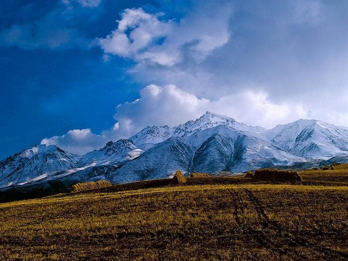
[[36,145],[0,162],[0,188],[107,179],[122,183],[183,173],[245,172],[348,162],[348,128],[300,119],[272,129],[206,112],[176,127],[148,126],[84,156]]

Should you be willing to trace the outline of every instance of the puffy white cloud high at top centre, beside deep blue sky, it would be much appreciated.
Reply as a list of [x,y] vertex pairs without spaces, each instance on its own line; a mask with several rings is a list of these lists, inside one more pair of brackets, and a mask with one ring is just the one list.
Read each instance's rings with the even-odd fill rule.
[[[202,10],[178,23],[160,20],[162,13],[147,13],[142,8],[126,9],[116,30],[99,44],[106,54],[132,58],[146,65],[173,67],[189,56],[202,61],[229,38],[229,5],[210,10],[209,19]],[[162,39],[162,41],[158,41]]]

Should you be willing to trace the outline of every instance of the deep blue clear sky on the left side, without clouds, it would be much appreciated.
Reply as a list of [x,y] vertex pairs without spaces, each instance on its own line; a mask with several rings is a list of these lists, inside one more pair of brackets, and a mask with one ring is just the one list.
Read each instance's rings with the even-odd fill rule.
[[[123,9],[150,3],[100,4],[92,8],[76,3],[74,7],[76,17],[71,24],[85,37],[107,35]],[[154,2],[149,9],[156,6]],[[31,24],[50,11],[63,9],[66,6],[59,1],[1,1],[1,28]],[[53,27],[64,26],[67,25]],[[105,63],[103,51],[97,47],[22,48],[20,44],[0,45],[1,159],[40,143],[44,137],[64,134],[70,129],[90,128],[100,133],[114,123],[115,105],[139,96],[142,85],[125,74],[134,64],[130,60],[114,57]]]

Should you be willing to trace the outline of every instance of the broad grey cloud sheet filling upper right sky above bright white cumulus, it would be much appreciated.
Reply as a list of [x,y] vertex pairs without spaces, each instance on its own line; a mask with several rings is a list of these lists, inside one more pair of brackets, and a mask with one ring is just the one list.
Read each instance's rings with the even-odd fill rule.
[[[192,10],[162,45],[143,54],[149,59],[160,59],[159,54],[173,50],[169,57],[179,57],[171,62],[174,66],[138,61],[129,74],[144,84],[174,84],[211,100],[251,88],[266,93],[274,103],[303,104],[312,114],[318,111],[322,118],[322,106],[317,101],[327,99],[333,92],[342,93],[348,86],[348,34],[344,22],[348,12],[342,11],[348,10],[348,4],[322,0],[230,3],[230,8],[214,2],[215,7],[204,4],[208,7]],[[196,42],[190,42],[199,39],[195,33],[211,36],[216,46],[209,49],[207,45],[206,50],[210,51],[199,55],[194,51]],[[175,42],[186,44],[176,51]],[[335,109],[331,103],[325,107]]]

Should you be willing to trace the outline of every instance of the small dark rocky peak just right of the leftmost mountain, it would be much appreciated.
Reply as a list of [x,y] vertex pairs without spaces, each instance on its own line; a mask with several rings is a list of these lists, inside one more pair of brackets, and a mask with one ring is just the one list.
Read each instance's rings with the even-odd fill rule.
[[131,140],[121,139],[116,142],[110,141],[106,143],[104,148],[91,151],[83,156],[80,166],[90,164],[119,166],[126,161],[133,160],[143,152]]

